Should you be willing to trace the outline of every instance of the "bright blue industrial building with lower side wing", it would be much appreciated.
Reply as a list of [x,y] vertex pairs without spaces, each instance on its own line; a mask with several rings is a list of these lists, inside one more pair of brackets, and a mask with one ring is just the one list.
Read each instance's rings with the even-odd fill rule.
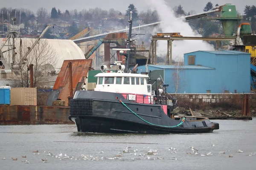
[[168,93],[250,93],[250,54],[240,51],[195,51],[184,65],[143,65],[138,73],[162,70]]

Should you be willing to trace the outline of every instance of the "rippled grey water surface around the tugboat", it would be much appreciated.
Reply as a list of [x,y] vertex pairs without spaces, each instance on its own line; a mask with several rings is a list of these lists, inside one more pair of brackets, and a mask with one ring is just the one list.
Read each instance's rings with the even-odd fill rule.
[[[220,124],[220,130],[206,134],[169,134],[169,135],[134,135],[134,134],[91,134],[77,133],[75,125],[13,125],[0,126],[0,170],[46,170],[46,169],[89,169],[89,170],[255,170],[256,155],[256,119],[214,120]],[[63,141],[63,142],[55,142]],[[64,142],[65,141],[65,142]],[[74,143],[76,142],[76,143]],[[81,142],[81,143],[78,143]],[[84,143],[84,142],[136,142],[157,144],[122,144],[122,143]],[[215,146],[212,147],[212,144]],[[114,158],[126,146],[130,152],[123,153],[122,159]],[[200,154],[187,154],[194,146]],[[148,147],[148,148],[147,148]],[[171,153],[169,147],[177,148],[177,153]],[[145,154],[134,156],[136,153]],[[150,150],[158,150],[158,155],[147,155]],[[237,153],[237,150],[243,153]],[[39,155],[32,151],[39,150]],[[68,156],[81,157],[81,154],[93,157],[103,157],[103,160],[59,160],[45,156],[44,150],[53,154],[67,153]],[[103,150],[104,153],[99,153]],[[226,154],[220,154],[221,151]],[[201,153],[212,152],[210,156]],[[26,158],[21,158],[26,156]],[[233,158],[229,158],[233,155]],[[3,160],[3,157],[6,157]],[[63,157],[62,156],[62,157]],[[148,160],[148,156],[151,158]],[[177,160],[172,160],[175,156]],[[164,159],[156,159],[161,157]],[[12,158],[17,158],[13,161]],[[43,163],[41,159],[48,159]],[[140,158],[139,160],[132,160]],[[63,158],[62,158],[63,159]],[[21,160],[28,160],[25,164]]]

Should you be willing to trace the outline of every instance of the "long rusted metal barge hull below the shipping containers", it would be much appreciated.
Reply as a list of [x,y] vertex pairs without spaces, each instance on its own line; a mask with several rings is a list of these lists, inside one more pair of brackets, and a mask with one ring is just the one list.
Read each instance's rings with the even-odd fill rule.
[[74,124],[69,107],[0,105],[0,125]]

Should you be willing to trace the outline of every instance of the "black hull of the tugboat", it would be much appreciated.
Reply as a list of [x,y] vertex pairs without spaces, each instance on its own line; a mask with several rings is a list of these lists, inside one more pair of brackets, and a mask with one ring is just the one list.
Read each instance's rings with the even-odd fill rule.
[[[129,111],[116,97],[140,118],[154,125]],[[181,120],[169,118],[160,105],[137,104],[125,100],[121,94],[97,91],[77,91],[70,101],[69,119],[76,123],[79,132],[93,133],[209,133],[219,128],[218,123],[207,118],[186,120],[173,127]]]

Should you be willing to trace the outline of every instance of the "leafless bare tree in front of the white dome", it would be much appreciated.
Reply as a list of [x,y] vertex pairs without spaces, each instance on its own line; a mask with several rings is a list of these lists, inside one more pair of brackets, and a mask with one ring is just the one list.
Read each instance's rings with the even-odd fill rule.
[[[23,39],[22,47],[17,46],[17,55],[15,57],[15,62],[19,66],[17,71],[14,71],[13,79],[16,87],[29,87],[30,86],[30,74],[29,74],[29,65],[33,64],[33,85],[38,87],[43,85],[43,82],[49,78],[50,73],[54,73],[55,65],[57,63],[56,52],[49,45],[48,40],[41,39],[37,45],[32,49],[31,53],[26,57],[26,52],[28,48],[36,39]],[[20,53],[21,51],[21,53]],[[21,55],[20,55],[21,54]]]

